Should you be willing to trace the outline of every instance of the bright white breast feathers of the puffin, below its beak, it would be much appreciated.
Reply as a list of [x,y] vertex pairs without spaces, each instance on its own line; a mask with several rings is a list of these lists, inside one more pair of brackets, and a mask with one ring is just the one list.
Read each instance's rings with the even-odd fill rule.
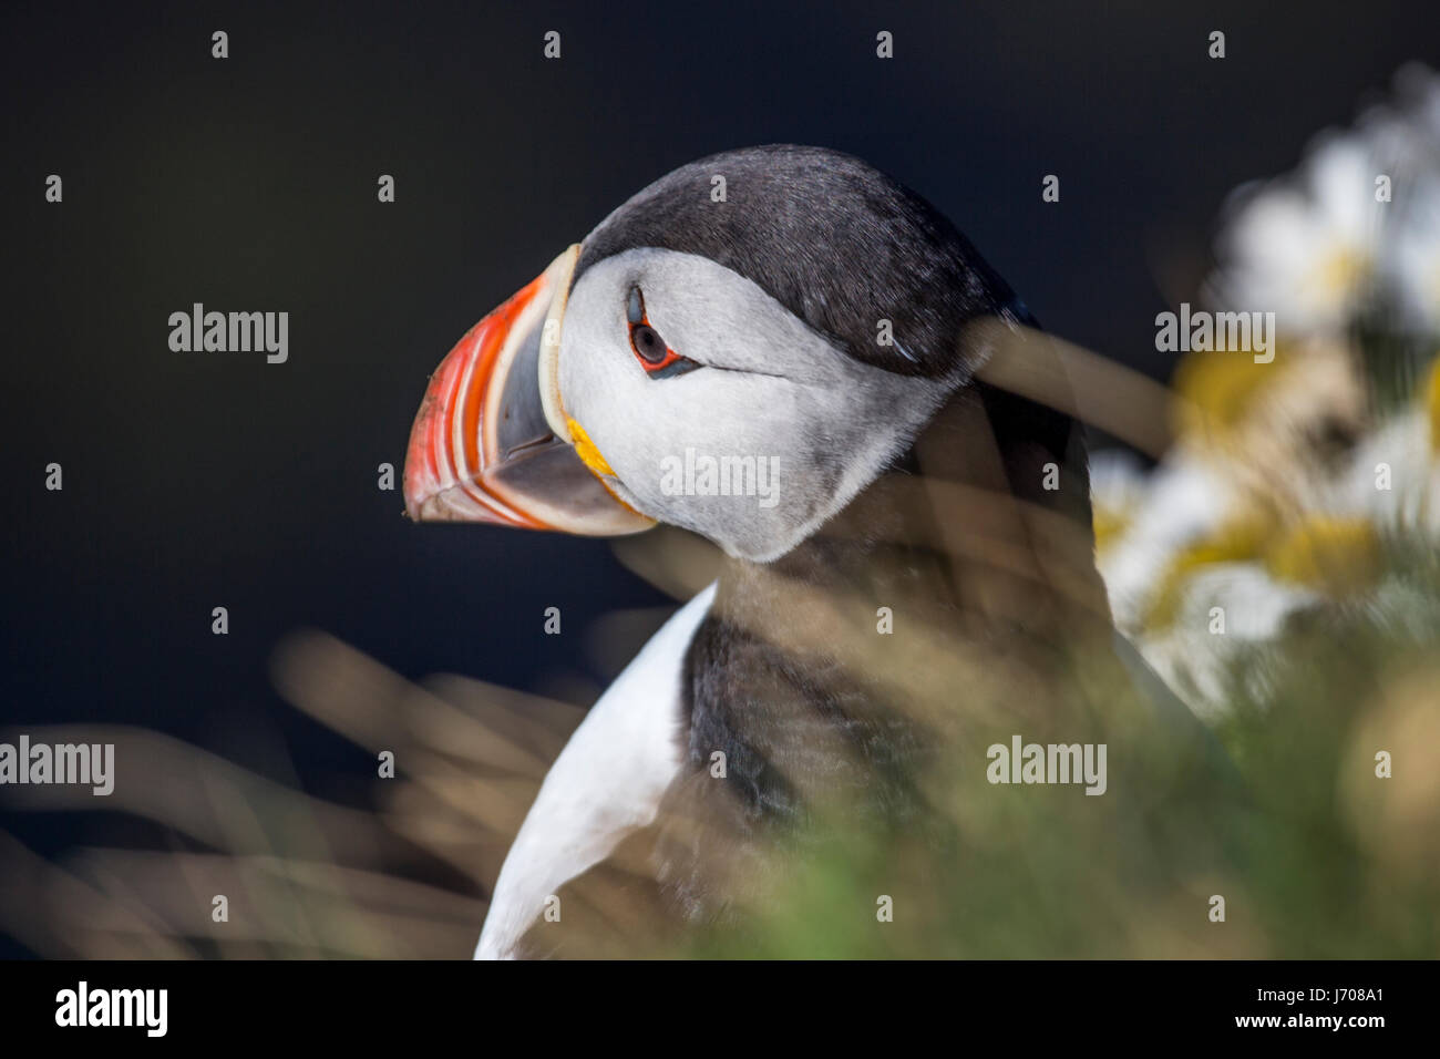
[[477,960],[510,957],[547,896],[654,821],[683,761],[685,650],[714,589],[710,585],[651,637],[550,767],[500,869]]

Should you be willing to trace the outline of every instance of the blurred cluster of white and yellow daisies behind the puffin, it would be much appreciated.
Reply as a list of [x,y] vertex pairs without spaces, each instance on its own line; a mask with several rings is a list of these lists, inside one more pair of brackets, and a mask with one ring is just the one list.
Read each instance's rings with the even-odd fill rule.
[[1274,360],[1188,353],[1159,465],[1094,460],[1116,622],[1207,715],[1238,706],[1243,658],[1292,660],[1299,617],[1433,628],[1416,562],[1440,546],[1440,76],[1407,66],[1296,173],[1241,187],[1217,258],[1208,307],[1274,313]]

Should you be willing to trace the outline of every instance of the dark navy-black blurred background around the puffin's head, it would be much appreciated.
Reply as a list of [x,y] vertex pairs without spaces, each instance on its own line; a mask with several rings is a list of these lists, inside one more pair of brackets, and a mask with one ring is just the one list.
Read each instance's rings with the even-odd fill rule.
[[[295,628],[409,677],[585,699],[606,674],[577,634],[665,596],[603,542],[412,526],[376,467],[403,465],[454,341],[613,206],[730,147],[851,151],[1050,330],[1165,377],[1153,317],[1194,295],[1227,192],[1434,63],[1434,29],[1433,0],[10,3],[0,723],[156,728],[363,803],[373,758],[272,690]],[[171,352],[196,301],[288,311],[289,362]],[[49,857],[168,840],[104,813],[3,827]]]

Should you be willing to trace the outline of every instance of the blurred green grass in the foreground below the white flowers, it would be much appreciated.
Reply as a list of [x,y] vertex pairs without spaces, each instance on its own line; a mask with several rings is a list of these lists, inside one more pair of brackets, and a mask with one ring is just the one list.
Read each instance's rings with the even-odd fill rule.
[[[1385,563],[1404,563],[1416,596],[1440,599],[1433,555]],[[1143,792],[1112,778],[1099,800],[952,777],[955,847],[903,834],[867,843],[837,820],[829,857],[804,867],[750,931],[716,931],[698,951],[1440,957],[1436,633],[1433,604],[1306,611],[1227,663],[1217,735],[1237,775],[1225,794],[1201,794],[1164,755],[1136,779]],[[1377,775],[1382,751],[1391,778]],[[1116,769],[1126,749],[1110,754]],[[916,902],[933,890],[914,879],[943,879],[943,899]],[[912,896],[877,922],[877,895],[899,892]],[[1217,895],[1224,922],[1210,919]]]

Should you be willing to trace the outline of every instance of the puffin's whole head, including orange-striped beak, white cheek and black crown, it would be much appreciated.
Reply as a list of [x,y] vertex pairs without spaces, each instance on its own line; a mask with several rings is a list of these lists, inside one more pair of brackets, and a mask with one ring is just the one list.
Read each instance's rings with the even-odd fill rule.
[[1024,318],[917,195],[829,150],[753,147],[661,177],[475,327],[431,379],[418,520],[622,535],[657,522],[785,555]]

